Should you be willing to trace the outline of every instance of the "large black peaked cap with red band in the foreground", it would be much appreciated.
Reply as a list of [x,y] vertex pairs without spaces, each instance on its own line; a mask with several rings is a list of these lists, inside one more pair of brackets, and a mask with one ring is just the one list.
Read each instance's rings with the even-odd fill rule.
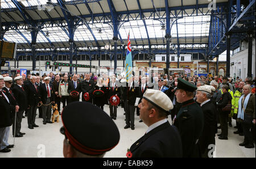
[[100,155],[119,142],[114,121],[101,108],[89,102],[69,103],[61,113],[63,134],[81,153]]

